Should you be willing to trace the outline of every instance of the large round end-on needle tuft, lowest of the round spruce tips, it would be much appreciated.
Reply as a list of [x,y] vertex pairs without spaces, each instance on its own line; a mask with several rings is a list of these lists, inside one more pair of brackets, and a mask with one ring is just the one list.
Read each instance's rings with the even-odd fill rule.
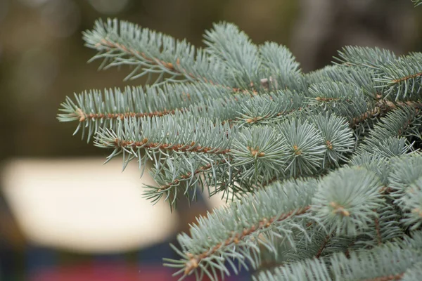
[[312,204],[313,219],[336,235],[357,235],[369,229],[376,218],[373,210],[383,202],[380,189],[376,175],[365,169],[338,169],[319,185]]

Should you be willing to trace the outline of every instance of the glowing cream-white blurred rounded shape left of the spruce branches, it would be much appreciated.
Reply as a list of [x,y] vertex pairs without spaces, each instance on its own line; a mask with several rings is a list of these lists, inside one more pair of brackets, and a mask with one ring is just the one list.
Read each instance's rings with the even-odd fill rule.
[[178,217],[142,197],[154,185],[120,159],[11,159],[1,172],[6,201],[29,240],[82,252],[129,251],[163,242]]

